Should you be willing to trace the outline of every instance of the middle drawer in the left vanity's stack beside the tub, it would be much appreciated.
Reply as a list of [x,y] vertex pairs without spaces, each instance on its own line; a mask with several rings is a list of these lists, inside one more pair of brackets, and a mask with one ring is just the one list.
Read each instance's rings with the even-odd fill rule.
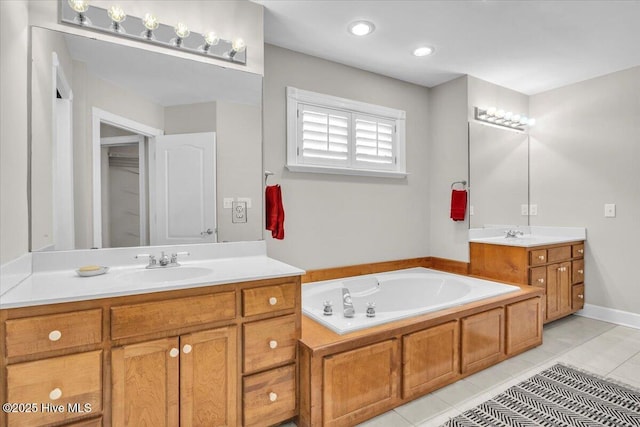
[[245,324],[244,372],[293,362],[298,335],[295,315]]

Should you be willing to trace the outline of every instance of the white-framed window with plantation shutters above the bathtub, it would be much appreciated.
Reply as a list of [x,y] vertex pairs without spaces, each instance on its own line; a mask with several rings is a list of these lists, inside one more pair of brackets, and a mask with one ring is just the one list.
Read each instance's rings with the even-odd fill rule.
[[405,112],[287,88],[287,168],[404,178]]

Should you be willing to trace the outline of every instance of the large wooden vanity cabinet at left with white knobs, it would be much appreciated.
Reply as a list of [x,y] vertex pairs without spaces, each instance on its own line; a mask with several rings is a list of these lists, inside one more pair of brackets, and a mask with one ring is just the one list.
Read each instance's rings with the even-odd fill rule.
[[[290,276],[3,309],[0,370],[10,375],[0,375],[0,400],[92,403],[90,413],[56,418],[65,426],[277,424],[298,413],[299,302],[300,276]],[[277,332],[275,348],[269,335],[243,347],[245,324]],[[52,401],[56,387],[62,397]],[[52,421],[0,414],[0,425]]]

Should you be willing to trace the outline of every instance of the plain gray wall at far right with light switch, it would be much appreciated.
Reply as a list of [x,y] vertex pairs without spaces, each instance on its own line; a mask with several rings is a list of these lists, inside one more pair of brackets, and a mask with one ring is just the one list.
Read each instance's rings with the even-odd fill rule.
[[586,302],[640,314],[640,67],[534,95],[531,115],[531,224],[586,227]]

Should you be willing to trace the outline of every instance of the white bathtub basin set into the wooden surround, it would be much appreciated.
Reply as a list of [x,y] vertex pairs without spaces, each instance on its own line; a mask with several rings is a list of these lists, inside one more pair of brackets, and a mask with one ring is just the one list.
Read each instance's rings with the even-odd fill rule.
[[[342,288],[349,289],[355,316],[343,315]],[[338,334],[356,331],[431,311],[442,310],[519,290],[468,276],[427,268],[307,283],[302,286],[302,311]],[[333,314],[324,315],[331,301]],[[367,303],[375,303],[375,317],[367,317]]]

